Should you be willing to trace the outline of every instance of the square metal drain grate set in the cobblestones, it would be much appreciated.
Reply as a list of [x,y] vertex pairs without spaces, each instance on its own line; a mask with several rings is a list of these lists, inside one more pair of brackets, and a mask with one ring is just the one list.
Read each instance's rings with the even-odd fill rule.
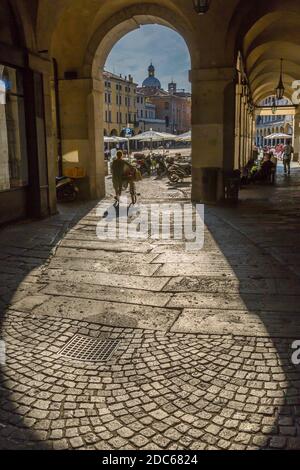
[[67,359],[83,362],[108,361],[120,344],[118,339],[100,340],[88,336],[75,335],[59,352]]

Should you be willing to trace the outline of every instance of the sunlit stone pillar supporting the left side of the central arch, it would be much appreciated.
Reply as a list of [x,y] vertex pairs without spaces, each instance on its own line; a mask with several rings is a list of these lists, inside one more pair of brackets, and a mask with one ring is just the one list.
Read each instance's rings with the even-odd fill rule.
[[63,171],[79,169],[83,199],[105,195],[102,88],[102,82],[92,78],[59,82]]

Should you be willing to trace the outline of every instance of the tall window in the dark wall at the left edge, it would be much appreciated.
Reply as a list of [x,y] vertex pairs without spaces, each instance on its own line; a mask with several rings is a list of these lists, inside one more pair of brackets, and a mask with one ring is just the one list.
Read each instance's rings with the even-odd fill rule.
[[28,184],[23,78],[0,64],[0,191]]

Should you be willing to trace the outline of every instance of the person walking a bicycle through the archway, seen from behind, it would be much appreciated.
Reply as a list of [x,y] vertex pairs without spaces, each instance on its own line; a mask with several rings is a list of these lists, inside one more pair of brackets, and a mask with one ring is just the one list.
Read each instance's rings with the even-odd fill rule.
[[117,158],[111,166],[112,181],[116,192],[116,201],[120,201],[123,188],[126,189],[130,185],[131,192],[134,190],[134,182],[140,178],[139,172],[130,163],[123,160],[122,150],[118,150]]

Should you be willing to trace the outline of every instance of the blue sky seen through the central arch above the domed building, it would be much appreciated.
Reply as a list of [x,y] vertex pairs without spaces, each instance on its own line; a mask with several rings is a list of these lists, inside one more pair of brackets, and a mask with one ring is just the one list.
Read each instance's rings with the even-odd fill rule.
[[178,88],[190,91],[189,50],[184,39],[165,26],[144,25],[128,33],[113,47],[105,70],[123,76],[131,74],[141,85],[148,76],[151,61],[156,69],[155,76],[164,89],[168,89],[168,83],[173,79]]

